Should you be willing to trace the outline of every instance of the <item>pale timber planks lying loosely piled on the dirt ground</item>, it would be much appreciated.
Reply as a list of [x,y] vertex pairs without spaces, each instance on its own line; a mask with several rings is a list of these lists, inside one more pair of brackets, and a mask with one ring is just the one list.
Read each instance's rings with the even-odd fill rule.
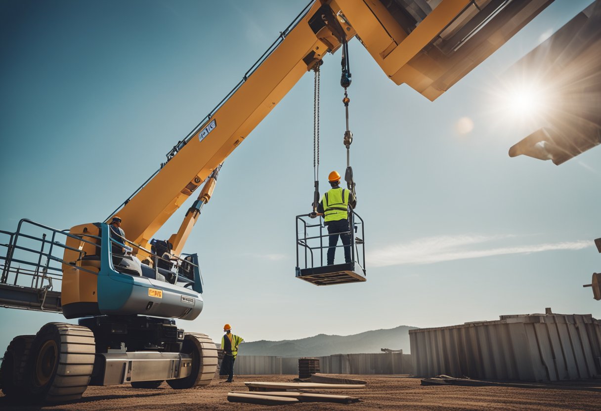
[[[227,400],[231,403],[248,403],[261,405],[284,405],[294,403],[338,403],[351,404],[361,401],[350,395],[332,395],[321,392],[307,392],[309,389],[357,389],[365,388],[360,380],[340,379],[321,374],[318,378],[338,383],[315,382],[245,382],[249,392],[228,392]],[[350,383],[340,383],[341,381]]]

